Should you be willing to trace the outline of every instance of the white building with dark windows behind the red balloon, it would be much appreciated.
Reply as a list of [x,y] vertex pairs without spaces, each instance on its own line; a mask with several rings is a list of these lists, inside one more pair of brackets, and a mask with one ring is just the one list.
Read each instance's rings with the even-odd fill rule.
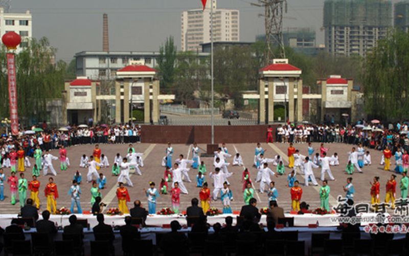
[[14,31],[21,36],[21,44],[17,47],[17,52],[28,46],[28,39],[32,34],[33,18],[30,11],[26,13],[5,13],[0,7],[0,37],[9,31]]

